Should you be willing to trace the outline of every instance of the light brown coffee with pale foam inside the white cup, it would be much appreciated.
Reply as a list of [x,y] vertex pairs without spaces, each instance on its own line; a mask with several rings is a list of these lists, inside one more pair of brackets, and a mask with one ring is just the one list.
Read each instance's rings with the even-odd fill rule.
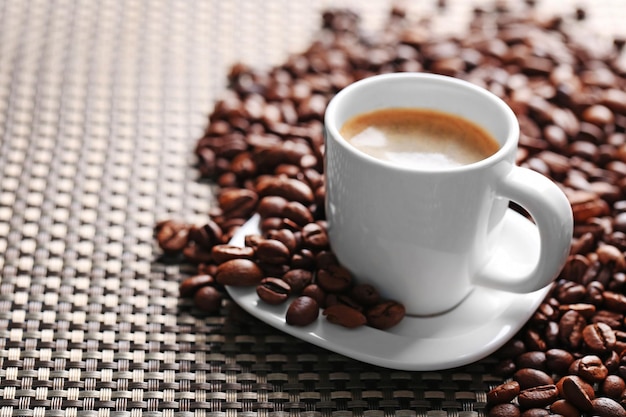
[[446,169],[481,161],[499,149],[482,127],[431,109],[388,108],[349,119],[341,135],[375,158],[418,169]]

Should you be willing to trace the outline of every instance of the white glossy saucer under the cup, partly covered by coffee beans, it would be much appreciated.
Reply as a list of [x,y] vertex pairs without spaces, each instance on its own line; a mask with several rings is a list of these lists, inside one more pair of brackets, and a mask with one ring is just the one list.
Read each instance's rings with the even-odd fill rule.
[[[242,246],[244,237],[258,234],[258,216],[252,217],[231,240]],[[508,210],[498,256],[516,259],[535,256],[539,233],[533,223]],[[389,330],[363,326],[346,329],[320,318],[306,327],[285,323],[288,303],[259,302],[252,287],[228,287],[244,310],[297,338],[366,363],[407,371],[432,371],[467,365],[496,351],[532,316],[550,286],[530,294],[513,294],[477,287],[453,310],[433,317],[405,317]]]

